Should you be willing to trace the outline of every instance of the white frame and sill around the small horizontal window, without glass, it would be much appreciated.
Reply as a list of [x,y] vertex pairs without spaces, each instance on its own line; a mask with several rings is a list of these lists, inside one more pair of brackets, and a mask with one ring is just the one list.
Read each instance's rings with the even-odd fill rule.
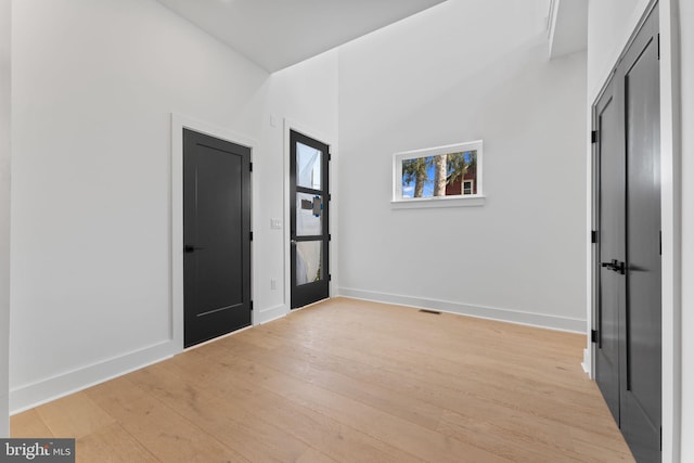
[[[464,185],[461,184],[461,194],[451,196],[432,197],[403,197],[402,196],[402,162],[417,157],[438,156],[449,153],[465,151],[477,152],[477,193],[463,194]],[[483,193],[483,141],[475,140],[464,143],[447,144],[444,146],[427,147],[423,150],[403,151],[393,155],[393,200],[390,205],[395,209],[419,207],[461,207],[483,206],[486,196]],[[473,185],[474,187],[474,185]]]

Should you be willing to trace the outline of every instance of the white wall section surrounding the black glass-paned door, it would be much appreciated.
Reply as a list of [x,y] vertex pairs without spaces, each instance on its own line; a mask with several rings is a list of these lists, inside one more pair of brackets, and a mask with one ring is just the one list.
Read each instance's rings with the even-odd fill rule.
[[[288,197],[288,145],[285,144],[287,127],[305,132],[331,145],[333,162],[330,178],[331,191],[337,191],[337,50],[325,52],[311,60],[282,69],[270,76],[267,104],[262,121],[265,151],[271,162],[254,171],[264,179],[259,201],[272,207],[256,208],[258,239],[267,245],[257,246],[257,284],[265,290],[257,299],[262,307],[256,316],[266,322],[290,310],[290,197]],[[283,198],[282,202],[279,200]],[[336,230],[338,198],[331,203],[331,229]],[[281,219],[282,230],[270,229],[271,219]],[[254,234],[255,237],[255,234]],[[337,281],[337,237],[331,252],[332,285]],[[282,258],[278,258],[282,257]],[[277,290],[270,290],[275,280]]]

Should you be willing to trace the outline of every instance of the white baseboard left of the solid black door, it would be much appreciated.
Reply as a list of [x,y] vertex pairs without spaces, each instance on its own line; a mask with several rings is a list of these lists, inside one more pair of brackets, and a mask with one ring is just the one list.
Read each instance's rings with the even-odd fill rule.
[[10,414],[21,413],[104,381],[130,373],[172,357],[180,351],[181,347],[176,346],[174,340],[166,340],[134,352],[11,389]]

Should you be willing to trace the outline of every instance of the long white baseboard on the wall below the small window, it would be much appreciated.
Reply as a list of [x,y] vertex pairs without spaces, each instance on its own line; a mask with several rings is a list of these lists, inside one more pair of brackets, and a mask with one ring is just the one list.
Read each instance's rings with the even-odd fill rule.
[[425,299],[414,296],[377,293],[373,291],[354,290],[349,287],[338,288],[338,295],[355,299],[373,300],[376,303],[398,304],[400,306],[435,309],[441,312],[458,313],[461,316],[477,317],[481,319],[499,320],[511,323],[526,324],[530,326],[545,327],[550,330],[567,331],[586,334],[586,320],[566,317],[548,316],[543,313],[524,312],[496,307],[472,306],[467,304],[451,303],[448,300]]

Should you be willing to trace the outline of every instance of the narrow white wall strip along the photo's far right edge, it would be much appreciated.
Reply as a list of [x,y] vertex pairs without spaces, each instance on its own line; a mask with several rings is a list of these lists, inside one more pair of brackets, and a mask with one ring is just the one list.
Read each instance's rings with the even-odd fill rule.
[[694,461],[694,3],[681,9],[682,65],[682,453]]

